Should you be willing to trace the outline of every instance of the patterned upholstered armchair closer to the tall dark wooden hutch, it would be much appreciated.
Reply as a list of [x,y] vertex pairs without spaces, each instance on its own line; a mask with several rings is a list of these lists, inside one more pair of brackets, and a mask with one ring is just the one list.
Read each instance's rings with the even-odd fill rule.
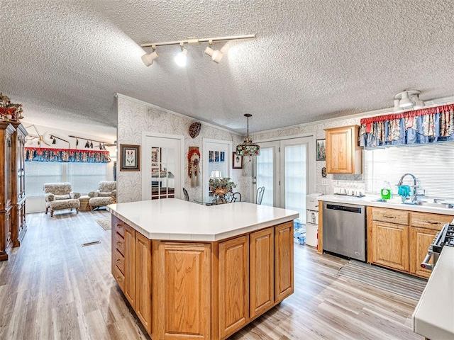
[[79,212],[80,193],[72,191],[71,183],[44,183],[45,213],[50,210],[50,217],[53,217],[55,210],[75,209]]

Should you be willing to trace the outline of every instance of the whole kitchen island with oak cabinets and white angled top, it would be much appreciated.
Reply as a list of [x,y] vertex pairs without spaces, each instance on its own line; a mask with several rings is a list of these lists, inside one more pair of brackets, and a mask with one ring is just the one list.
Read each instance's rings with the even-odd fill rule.
[[293,293],[292,210],[108,206],[112,274],[152,339],[226,339]]

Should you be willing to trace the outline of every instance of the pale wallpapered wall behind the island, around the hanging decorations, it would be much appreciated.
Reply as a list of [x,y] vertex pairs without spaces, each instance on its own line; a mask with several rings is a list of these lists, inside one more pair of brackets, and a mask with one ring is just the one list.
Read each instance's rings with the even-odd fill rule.
[[[213,140],[228,140],[232,141],[233,145],[238,145],[243,142],[242,137],[229,132],[226,129],[216,128],[214,125],[209,125],[201,122],[201,132],[197,137],[192,139],[189,136],[189,125],[194,123],[194,119],[188,118],[178,113],[165,111],[157,108],[149,103],[135,100],[118,94],[118,130],[117,143],[142,145],[142,132],[155,132],[168,135],[183,135],[184,136],[184,171],[182,174],[183,187],[187,189],[190,200],[199,198],[202,199],[202,186],[191,187],[190,179],[187,175],[187,159],[186,155],[189,147],[199,147],[201,157],[204,157],[202,139],[210,138]],[[206,176],[206,171],[203,169],[203,159],[201,159],[201,176],[203,183]],[[230,165],[231,166],[231,165]],[[144,168],[140,166],[140,168]],[[231,179],[237,183],[236,191],[239,191],[244,200],[250,200],[250,171],[251,166],[246,162],[243,169],[231,169]],[[243,195],[244,193],[244,195]],[[141,171],[119,171],[117,167],[117,195],[118,203],[133,202],[142,199],[142,174]],[[180,193],[182,196],[182,193]]]

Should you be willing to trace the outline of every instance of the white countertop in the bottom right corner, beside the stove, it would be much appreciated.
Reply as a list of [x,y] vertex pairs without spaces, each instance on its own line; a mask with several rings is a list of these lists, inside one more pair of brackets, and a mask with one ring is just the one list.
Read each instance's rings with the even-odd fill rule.
[[454,247],[444,246],[414,310],[413,331],[427,339],[454,339]]

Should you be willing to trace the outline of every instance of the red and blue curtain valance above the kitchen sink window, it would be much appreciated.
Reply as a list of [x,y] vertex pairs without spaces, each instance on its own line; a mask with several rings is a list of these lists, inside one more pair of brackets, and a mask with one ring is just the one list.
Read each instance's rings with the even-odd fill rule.
[[360,146],[411,145],[454,140],[454,104],[360,120]]

